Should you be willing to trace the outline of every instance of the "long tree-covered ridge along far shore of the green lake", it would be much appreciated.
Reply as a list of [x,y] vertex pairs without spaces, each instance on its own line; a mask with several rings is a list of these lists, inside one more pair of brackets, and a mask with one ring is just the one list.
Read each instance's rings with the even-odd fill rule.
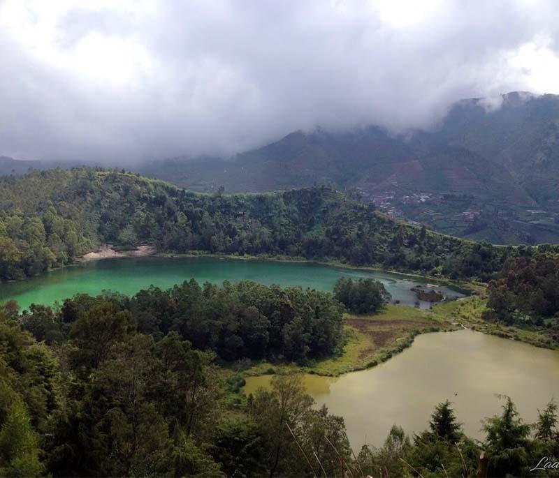
[[486,281],[531,248],[465,241],[393,221],[327,187],[191,193],[126,172],[78,168],[0,178],[0,278],[74,261],[99,244],[334,259]]

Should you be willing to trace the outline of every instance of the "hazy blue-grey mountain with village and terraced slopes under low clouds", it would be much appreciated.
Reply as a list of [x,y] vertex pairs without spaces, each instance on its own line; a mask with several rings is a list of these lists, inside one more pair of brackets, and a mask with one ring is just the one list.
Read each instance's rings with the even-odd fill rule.
[[461,100],[429,131],[296,132],[230,159],[179,158],[138,170],[194,191],[333,184],[447,234],[559,242],[559,96]]

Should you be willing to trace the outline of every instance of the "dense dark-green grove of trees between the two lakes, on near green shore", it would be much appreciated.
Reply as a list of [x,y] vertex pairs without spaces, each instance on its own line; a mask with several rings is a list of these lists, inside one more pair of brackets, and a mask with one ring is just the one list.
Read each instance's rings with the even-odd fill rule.
[[[38,341],[54,344],[68,339],[78,318],[99,323],[117,313],[133,318],[142,334],[161,338],[173,331],[180,340],[224,360],[304,362],[340,351],[342,310],[327,292],[252,281],[201,286],[191,279],[169,290],[152,286],[131,298],[78,294],[66,299],[59,311],[32,305],[21,320]],[[103,341],[96,346],[106,349]]]

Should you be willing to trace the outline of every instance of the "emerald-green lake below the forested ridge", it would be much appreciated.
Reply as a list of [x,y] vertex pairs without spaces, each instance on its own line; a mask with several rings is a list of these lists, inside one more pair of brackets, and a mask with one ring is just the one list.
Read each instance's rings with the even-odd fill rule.
[[[138,290],[156,285],[161,289],[195,278],[203,283],[251,280],[263,284],[282,286],[300,285],[317,290],[333,290],[341,276],[377,278],[392,294],[393,300],[414,305],[414,285],[425,285],[421,278],[399,274],[358,269],[341,269],[311,262],[273,262],[266,260],[242,260],[219,257],[120,257],[115,259],[82,262],[72,267],[50,271],[25,281],[0,284],[0,300],[15,299],[21,308],[30,304],[54,304],[78,292],[99,294],[113,290],[123,294],[135,294]],[[450,299],[460,292],[448,287],[437,287]],[[428,302],[419,302],[428,307]]]

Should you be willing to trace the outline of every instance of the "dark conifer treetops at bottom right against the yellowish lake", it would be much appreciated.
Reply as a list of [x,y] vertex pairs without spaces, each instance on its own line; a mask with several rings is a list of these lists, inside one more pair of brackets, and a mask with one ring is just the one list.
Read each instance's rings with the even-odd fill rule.
[[[372,476],[375,472],[378,476],[424,478],[557,476],[555,470],[532,471],[542,457],[553,462],[552,457],[558,456],[556,404],[549,403],[530,426],[518,417],[511,399],[504,399],[502,414],[486,419],[486,439],[481,444],[464,435],[446,401],[435,407],[428,430],[409,440],[402,428],[393,426],[382,448],[361,449],[358,465]],[[482,451],[488,457],[487,475],[477,475]]]

